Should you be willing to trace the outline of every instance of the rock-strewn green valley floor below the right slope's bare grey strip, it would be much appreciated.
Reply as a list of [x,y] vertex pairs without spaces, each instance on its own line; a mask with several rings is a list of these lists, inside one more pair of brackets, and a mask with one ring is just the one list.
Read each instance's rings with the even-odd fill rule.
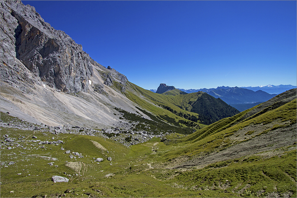
[[1,127],[1,197],[296,197],[296,142],[228,159],[209,153],[216,159],[193,166],[199,158],[166,157],[185,147],[172,143],[182,136],[127,147],[99,135]]

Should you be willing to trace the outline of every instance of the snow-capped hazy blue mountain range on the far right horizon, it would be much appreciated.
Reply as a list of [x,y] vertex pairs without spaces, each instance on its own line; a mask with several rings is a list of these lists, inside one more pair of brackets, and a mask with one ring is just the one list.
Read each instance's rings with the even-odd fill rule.
[[283,93],[285,91],[288,91],[290,89],[294,89],[297,88],[297,86],[293,86],[293,85],[266,85],[266,86],[257,86],[257,87],[241,87],[241,88],[245,88],[245,89],[250,89],[252,91],[258,91],[258,90],[262,90],[267,92],[268,94],[280,94]]

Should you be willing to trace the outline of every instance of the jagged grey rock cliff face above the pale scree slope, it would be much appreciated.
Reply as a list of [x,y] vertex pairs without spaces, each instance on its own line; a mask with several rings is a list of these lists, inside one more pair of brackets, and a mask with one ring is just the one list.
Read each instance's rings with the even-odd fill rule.
[[[44,22],[34,7],[1,1],[1,81],[87,92],[94,65],[105,69],[67,34]],[[121,79],[127,81],[125,76]]]

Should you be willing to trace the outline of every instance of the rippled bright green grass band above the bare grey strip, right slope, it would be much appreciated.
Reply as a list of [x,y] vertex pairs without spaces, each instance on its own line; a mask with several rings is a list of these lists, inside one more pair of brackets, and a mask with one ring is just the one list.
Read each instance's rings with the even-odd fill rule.
[[[225,118],[220,121],[217,121],[216,123],[213,123],[203,129],[198,130],[193,134],[188,135],[187,137],[181,140],[178,140],[177,142],[180,142],[181,145],[184,146],[184,148],[168,152],[165,155],[166,158],[175,158],[181,154],[195,155],[200,152],[212,151],[214,148],[218,148],[222,144],[222,142],[228,142],[228,146],[236,144],[238,142],[231,142],[229,139],[226,140],[225,137],[229,137],[233,135],[236,131],[251,124],[268,124],[278,119],[282,122],[290,122],[282,126],[274,127],[287,127],[288,125],[296,123],[296,99],[274,110],[270,110],[263,114],[259,113],[260,115],[258,115],[257,117],[247,118],[244,121],[238,122],[238,120],[240,120],[246,113],[248,113],[256,107],[248,109],[237,115],[234,115],[231,118]],[[266,110],[264,109],[263,112],[265,111]],[[274,128],[272,127],[269,130],[272,129]],[[268,131],[263,131],[261,133],[263,134],[267,132]],[[255,136],[259,134],[255,134]],[[253,136],[252,138],[254,138],[255,136]],[[211,144],[209,144],[210,142]]]

